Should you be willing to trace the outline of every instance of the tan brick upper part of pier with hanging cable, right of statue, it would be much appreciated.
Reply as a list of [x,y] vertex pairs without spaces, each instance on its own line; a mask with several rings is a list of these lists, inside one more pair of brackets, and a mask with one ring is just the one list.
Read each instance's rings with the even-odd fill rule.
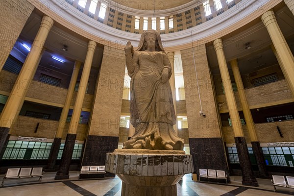
[[208,67],[205,45],[194,48],[196,71],[199,82],[200,96],[203,112],[206,117],[199,114],[200,101],[196,83],[196,73],[192,49],[181,50],[186,108],[188,116],[189,138],[215,138],[221,137],[221,130],[214,101],[210,71]]

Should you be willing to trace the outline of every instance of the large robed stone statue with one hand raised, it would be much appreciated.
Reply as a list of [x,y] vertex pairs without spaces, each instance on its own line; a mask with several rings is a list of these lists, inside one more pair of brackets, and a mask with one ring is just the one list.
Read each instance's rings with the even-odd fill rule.
[[172,67],[156,30],[142,33],[136,51],[127,42],[125,61],[131,77],[130,113],[135,134],[123,148],[183,150],[184,140],[177,137],[176,116],[169,78]]

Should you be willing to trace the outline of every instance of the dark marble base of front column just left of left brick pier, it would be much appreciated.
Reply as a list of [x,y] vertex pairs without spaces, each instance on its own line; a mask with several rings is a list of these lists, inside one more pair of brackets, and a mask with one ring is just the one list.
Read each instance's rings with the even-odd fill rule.
[[61,163],[59,169],[55,175],[55,180],[69,179],[70,164],[73,156],[73,147],[76,134],[68,133],[66,136],[63,153],[61,157]]

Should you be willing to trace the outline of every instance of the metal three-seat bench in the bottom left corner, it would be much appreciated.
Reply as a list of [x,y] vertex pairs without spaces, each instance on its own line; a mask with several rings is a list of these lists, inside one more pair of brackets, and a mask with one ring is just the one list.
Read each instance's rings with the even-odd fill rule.
[[10,168],[4,176],[1,186],[3,186],[6,179],[40,177],[39,181],[41,181],[43,175],[43,168]]

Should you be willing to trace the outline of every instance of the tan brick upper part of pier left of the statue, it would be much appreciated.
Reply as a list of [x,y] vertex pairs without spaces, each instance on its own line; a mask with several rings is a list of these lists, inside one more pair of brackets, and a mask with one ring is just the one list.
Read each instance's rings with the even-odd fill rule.
[[105,47],[89,135],[119,136],[124,71],[124,50]]

